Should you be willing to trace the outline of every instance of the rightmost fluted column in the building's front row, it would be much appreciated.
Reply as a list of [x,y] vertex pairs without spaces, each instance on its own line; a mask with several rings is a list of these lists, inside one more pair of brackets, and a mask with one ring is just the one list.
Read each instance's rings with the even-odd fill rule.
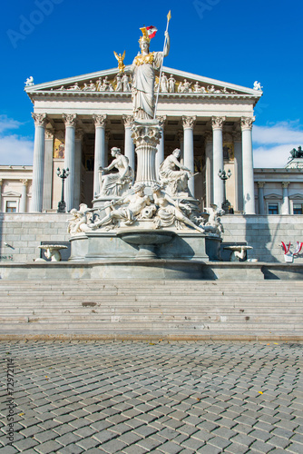
[[242,165],[243,165],[243,210],[245,214],[256,214],[253,178],[251,128],[255,117],[242,117]]

